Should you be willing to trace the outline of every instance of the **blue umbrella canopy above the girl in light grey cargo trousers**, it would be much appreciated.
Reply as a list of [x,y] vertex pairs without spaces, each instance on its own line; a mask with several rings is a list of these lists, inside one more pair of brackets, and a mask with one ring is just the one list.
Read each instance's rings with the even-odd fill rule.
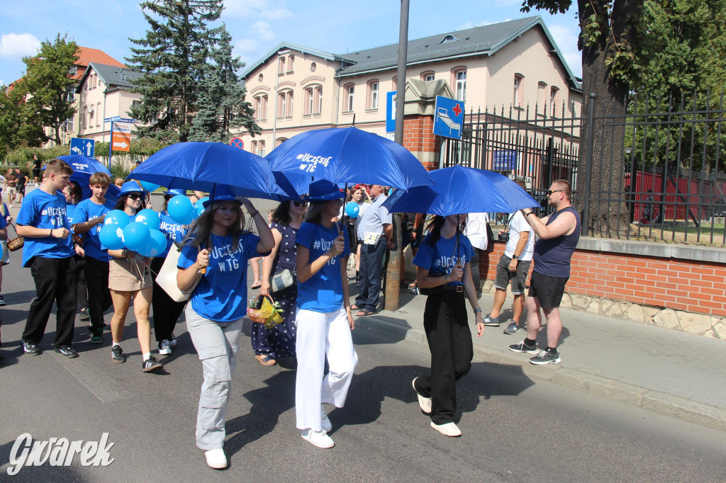
[[280,187],[285,178],[272,174],[263,157],[222,143],[188,142],[166,146],[137,166],[127,179],[149,181],[168,189],[212,192],[227,185],[235,196],[298,199],[292,186]]

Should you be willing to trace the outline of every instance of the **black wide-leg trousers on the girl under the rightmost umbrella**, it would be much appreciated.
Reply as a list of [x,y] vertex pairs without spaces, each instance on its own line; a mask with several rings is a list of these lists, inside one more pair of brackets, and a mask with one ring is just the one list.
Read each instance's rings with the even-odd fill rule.
[[471,368],[474,348],[463,293],[429,295],[423,312],[423,329],[431,350],[431,373],[416,380],[416,389],[431,397],[431,421],[454,421],[456,381]]

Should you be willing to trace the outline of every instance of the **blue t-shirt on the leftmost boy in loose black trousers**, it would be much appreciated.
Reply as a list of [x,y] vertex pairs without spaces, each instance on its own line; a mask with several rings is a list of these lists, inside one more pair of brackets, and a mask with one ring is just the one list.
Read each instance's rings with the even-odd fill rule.
[[[42,189],[33,189],[25,195],[23,205],[17,214],[17,224],[34,226],[43,229],[66,228],[70,231],[68,218],[65,215],[65,196],[60,191],[47,194]],[[73,254],[73,238],[65,239],[53,236],[25,238],[23,245],[23,267],[30,266],[33,257],[68,258]]]

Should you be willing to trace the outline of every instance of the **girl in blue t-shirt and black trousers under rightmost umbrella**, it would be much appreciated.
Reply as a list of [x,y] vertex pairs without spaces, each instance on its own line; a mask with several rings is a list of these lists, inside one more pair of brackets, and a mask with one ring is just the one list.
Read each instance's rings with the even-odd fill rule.
[[484,321],[471,278],[474,251],[460,233],[466,215],[436,216],[431,233],[422,241],[413,264],[422,292],[431,290],[423,312],[423,329],[431,349],[431,371],[413,380],[418,403],[431,427],[446,436],[461,436],[454,423],[456,381],[471,368],[474,356],[466,313],[466,296],[476,316],[476,336],[484,333]]

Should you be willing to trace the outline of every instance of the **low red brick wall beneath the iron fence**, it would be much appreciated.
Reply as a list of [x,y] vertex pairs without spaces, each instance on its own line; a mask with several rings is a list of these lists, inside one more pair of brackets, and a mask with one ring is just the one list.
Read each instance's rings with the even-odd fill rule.
[[[481,278],[494,280],[505,244],[481,260]],[[530,269],[531,273],[531,269]],[[529,276],[527,277],[529,284]],[[577,249],[565,291],[639,305],[726,316],[722,263]]]

